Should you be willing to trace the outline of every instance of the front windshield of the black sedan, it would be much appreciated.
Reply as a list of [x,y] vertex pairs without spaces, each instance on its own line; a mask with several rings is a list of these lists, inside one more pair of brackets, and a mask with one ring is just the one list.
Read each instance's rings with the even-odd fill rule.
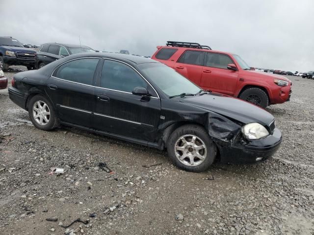
[[145,63],[138,65],[152,82],[169,96],[180,94],[197,94],[202,89],[183,77],[177,71],[161,63]]

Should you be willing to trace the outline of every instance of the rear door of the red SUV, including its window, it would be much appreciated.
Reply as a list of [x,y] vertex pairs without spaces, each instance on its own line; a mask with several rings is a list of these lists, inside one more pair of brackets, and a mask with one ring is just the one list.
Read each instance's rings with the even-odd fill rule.
[[185,50],[174,69],[197,85],[201,83],[205,52]]

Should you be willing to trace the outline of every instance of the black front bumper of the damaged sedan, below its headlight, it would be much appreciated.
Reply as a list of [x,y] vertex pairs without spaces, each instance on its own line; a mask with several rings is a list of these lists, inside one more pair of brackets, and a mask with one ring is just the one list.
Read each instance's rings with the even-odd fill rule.
[[251,141],[215,141],[222,163],[257,163],[271,157],[278,150],[282,141],[279,129],[260,140]]

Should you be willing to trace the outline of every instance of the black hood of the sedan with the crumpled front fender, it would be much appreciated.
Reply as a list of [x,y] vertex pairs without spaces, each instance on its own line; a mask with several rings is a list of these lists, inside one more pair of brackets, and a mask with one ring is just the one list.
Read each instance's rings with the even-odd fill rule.
[[274,120],[270,113],[256,105],[221,94],[187,96],[180,102],[207,109],[245,124],[258,122],[268,126]]

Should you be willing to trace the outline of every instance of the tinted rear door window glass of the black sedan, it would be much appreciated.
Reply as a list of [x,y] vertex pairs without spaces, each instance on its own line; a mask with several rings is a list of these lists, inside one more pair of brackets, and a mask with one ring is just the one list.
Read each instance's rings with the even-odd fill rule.
[[95,58],[70,61],[58,68],[55,77],[71,82],[92,85],[98,62],[99,59]]

